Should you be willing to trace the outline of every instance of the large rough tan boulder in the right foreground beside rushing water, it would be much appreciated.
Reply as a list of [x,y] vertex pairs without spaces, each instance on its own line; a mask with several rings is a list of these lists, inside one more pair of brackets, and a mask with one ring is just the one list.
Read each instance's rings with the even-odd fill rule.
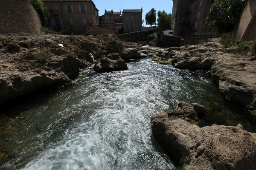
[[153,136],[176,162],[187,170],[256,169],[256,134],[237,127],[212,125],[200,128],[166,113],[151,117]]

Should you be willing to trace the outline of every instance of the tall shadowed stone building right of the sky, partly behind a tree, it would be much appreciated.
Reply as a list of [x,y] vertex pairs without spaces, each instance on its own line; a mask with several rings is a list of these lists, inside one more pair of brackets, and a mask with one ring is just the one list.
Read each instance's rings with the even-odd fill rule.
[[205,23],[213,2],[214,0],[173,0],[174,35],[217,34]]

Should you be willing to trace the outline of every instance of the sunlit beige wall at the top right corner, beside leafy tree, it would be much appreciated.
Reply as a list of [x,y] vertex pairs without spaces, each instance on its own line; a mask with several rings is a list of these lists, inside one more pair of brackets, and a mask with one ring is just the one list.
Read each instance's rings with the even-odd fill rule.
[[247,0],[241,15],[236,37],[243,40],[256,39],[256,0]]

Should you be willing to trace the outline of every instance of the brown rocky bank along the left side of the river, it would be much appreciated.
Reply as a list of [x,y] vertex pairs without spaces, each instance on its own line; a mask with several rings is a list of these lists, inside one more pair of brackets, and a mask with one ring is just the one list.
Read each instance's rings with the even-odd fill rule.
[[0,35],[0,103],[69,82],[80,68],[122,50],[113,35]]

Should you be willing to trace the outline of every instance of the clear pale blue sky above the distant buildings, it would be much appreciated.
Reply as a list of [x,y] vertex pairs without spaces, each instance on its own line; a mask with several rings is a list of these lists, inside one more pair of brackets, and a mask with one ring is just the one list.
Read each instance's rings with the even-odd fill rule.
[[[155,8],[157,11],[165,10],[167,13],[172,13],[172,0],[93,0],[96,8],[99,9],[99,16],[104,15],[105,9],[107,11],[121,11],[123,9],[140,9],[143,7],[143,18],[145,14]],[[145,22],[143,23],[145,26]]]

